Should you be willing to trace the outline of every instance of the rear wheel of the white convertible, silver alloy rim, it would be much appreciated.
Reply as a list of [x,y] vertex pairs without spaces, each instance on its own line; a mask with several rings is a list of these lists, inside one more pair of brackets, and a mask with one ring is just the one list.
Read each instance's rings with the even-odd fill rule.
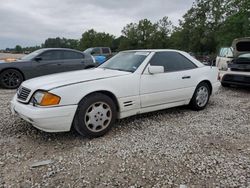
[[189,103],[193,110],[203,110],[209,101],[211,89],[207,83],[201,82],[195,89],[193,97]]

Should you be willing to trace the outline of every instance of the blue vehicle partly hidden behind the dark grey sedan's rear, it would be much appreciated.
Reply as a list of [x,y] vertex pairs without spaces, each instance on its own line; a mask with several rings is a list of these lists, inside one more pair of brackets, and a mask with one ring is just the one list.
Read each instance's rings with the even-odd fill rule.
[[91,54],[99,64],[104,63],[107,59],[112,57],[112,51],[109,47],[88,48],[84,53]]

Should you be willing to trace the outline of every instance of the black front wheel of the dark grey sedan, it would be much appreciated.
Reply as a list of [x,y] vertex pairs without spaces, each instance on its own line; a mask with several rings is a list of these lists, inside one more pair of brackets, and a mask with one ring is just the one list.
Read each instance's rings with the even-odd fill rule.
[[7,69],[0,74],[0,85],[4,89],[16,89],[23,81],[22,73],[16,69]]

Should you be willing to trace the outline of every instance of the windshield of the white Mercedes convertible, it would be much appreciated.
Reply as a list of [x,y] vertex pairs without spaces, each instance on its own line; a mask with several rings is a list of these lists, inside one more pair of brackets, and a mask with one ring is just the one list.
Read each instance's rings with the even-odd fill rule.
[[149,52],[120,52],[99,67],[135,72],[148,55]]

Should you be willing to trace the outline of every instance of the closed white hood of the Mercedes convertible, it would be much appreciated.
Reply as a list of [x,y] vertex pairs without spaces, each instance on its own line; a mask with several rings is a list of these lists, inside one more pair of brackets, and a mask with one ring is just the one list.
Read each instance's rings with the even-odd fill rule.
[[23,82],[22,86],[33,91],[39,89],[51,90],[53,88],[68,86],[71,84],[89,82],[128,74],[132,73],[103,68],[94,68],[37,77]]

